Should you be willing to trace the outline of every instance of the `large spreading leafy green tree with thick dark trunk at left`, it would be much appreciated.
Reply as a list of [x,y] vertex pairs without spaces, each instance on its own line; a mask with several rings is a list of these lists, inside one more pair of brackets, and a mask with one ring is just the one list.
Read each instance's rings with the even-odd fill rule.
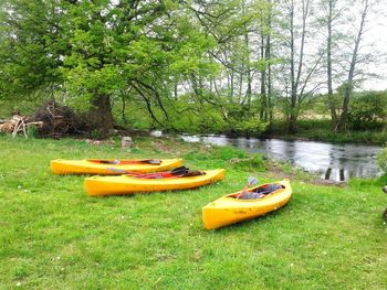
[[163,98],[171,76],[203,72],[209,63],[203,52],[211,40],[195,31],[188,11],[161,0],[7,0],[2,84],[23,95],[54,84],[88,110],[90,129],[103,135],[114,123],[112,98],[130,87],[156,121],[153,104],[168,120]]

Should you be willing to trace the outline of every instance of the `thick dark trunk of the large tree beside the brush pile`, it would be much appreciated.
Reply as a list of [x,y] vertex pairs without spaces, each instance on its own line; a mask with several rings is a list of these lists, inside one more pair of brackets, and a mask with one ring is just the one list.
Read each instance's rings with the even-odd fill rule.
[[87,127],[95,130],[98,137],[106,137],[114,125],[111,97],[98,95],[93,98],[92,105],[87,112]]

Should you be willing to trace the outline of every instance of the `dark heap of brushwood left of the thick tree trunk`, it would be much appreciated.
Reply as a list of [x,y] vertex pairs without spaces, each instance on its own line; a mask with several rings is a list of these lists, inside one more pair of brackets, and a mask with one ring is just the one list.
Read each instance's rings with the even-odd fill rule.
[[50,100],[39,108],[32,117],[43,125],[38,128],[40,137],[60,138],[64,136],[84,135],[85,122],[66,106]]

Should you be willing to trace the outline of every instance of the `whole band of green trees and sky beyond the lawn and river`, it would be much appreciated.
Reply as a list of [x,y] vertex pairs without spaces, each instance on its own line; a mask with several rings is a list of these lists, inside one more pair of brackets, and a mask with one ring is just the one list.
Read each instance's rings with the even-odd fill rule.
[[82,114],[95,137],[121,125],[317,139],[349,131],[383,142],[386,56],[375,31],[384,8],[376,0],[6,0],[0,116],[55,99]]

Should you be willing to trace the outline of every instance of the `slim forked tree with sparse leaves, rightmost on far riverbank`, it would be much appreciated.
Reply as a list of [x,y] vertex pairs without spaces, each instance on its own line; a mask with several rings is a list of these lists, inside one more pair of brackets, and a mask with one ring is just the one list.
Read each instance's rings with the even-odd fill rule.
[[[376,2],[326,0],[318,3],[322,12],[317,20],[325,32],[327,104],[336,130],[346,129],[354,87],[359,78],[366,76],[359,64],[366,66],[373,61],[370,53],[364,50],[363,43],[368,31],[367,19],[372,6]],[[373,54],[376,54],[375,50],[372,50]],[[334,94],[335,86],[339,94]],[[342,95],[339,106],[337,95]]]

